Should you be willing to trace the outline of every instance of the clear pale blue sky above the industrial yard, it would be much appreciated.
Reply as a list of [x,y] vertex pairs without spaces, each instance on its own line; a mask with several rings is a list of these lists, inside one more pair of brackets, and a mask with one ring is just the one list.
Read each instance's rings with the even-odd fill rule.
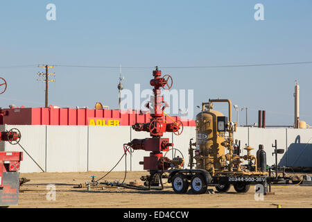
[[[46,20],[46,5],[56,21]],[[264,21],[254,20],[254,5]],[[44,105],[37,64],[188,67],[311,61],[312,1],[1,1],[0,76],[8,89],[1,107]],[[15,65],[29,67],[4,68]],[[194,106],[229,98],[267,111],[267,124],[293,124],[294,81],[300,119],[312,125],[312,65],[162,69],[175,89],[194,89]],[[150,88],[153,69],[123,69],[124,85]],[[118,108],[119,69],[55,67],[49,104]],[[226,105],[216,105],[226,113]],[[194,112],[197,112],[194,108]],[[233,113],[236,120],[236,113]],[[240,122],[245,112],[240,112]]]

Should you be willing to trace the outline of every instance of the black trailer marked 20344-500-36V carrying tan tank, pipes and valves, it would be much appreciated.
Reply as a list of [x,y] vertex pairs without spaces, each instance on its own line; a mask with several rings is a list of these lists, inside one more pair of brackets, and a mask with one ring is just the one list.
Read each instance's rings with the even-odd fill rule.
[[[214,110],[214,103],[228,103],[229,117]],[[168,182],[172,183],[173,190],[182,194],[191,187],[194,194],[203,194],[207,186],[228,191],[233,185],[237,192],[247,192],[250,185],[261,184],[266,191],[268,172],[261,171],[266,169],[266,157],[251,155],[253,148],[250,146],[244,148],[246,155],[240,155],[234,144],[235,131],[229,99],[209,99],[208,103],[202,103],[202,110],[196,115],[196,142],[190,141],[191,169],[176,169],[170,173]],[[243,162],[248,164],[243,165]]]

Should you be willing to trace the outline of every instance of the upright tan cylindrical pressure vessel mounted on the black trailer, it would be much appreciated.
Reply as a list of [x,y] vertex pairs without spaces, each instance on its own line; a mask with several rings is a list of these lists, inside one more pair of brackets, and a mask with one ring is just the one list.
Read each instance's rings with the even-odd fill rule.
[[217,117],[224,117],[215,110],[196,115],[196,169],[223,170],[225,167],[224,133],[217,132]]

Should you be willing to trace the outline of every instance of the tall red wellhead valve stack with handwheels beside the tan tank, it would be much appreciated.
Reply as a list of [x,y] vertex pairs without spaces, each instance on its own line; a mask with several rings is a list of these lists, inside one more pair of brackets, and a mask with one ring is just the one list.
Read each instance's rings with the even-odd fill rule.
[[145,131],[150,133],[150,137],[146,139],[132,139],[128,146],[131,146],[134,150],[150,151],[149,157],[144,157],[144,161],[140,164],[144,165],[144,170],[150,171],[150,174],[161,173],[170,167],[182,167],[184,160],[182,158],[174,158],[170,160],[168,157],[164,157],[162,152],[169,151],[170,147],[173,147],[172,143],[169,143],[168,138],[162,138],[163,133],[172,132],[175,135],[180,135],[183,130],[183,124],[181,121],[173,121],[173,123],[166,123],[164,118],[164,109],[168,107],[168,104],[164,101],[164,96],[161,95],[162,89],[171,89],[173,80],[171,76],[162,76],[162,71],[153,71],[154,78],[150,80],[150,85],[154,87],[153,94],[150,103],[146,104],[146,108],[150,109],[149,123],[135,123],[132,128],[136,131]]

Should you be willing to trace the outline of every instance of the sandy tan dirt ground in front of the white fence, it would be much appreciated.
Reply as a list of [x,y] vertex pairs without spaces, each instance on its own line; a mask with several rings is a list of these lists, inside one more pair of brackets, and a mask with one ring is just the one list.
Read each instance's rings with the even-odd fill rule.
[[[223,207],[253,207],[253,208],[276,208],[277,205],[284,207],[312,207],[312,187],[290,186],[272,187],[275,195],[264,196],[263,200],[254,199],[254,187],[246,194],[237,194],[233,187],[227,193],[215,194],[175,194],[173,189],[166,188],[162,191],[138,191],[132,189],[91,189],[73,188],[75,184],[84,184],[91,180],[101,178],[105,172],[83,173],[21,173],[20,177],[31,181],[21,187],[19,205],[11,207],[184,207],[184,208],[223,208]],[[146,171],[128,172],[125,182],[137,180]],[[124,172],[112,172],[105,180],[122,181]],[[46,185],[37,184],[73,184],[55,185],[55,200],[47,200],[49,192]],[[28,184],[28,185],[27,185]],[[36,185],[31,185],[36,184]],[[166,186],[166,185],[165,185]],[[214,187],[209,187],[214,188]],[[48,195],[49,196],[49,195]],[[51,197],[51,196],[49,196]]]

